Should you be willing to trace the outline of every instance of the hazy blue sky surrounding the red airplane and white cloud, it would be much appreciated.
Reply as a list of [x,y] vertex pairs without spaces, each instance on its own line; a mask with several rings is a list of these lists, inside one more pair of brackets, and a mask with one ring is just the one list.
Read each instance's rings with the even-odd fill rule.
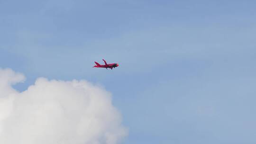
[[[94,61],[119,63],[111,70]],[[256,144],[254,0],[0,0],[0,67],[113,96],[122,144]]]

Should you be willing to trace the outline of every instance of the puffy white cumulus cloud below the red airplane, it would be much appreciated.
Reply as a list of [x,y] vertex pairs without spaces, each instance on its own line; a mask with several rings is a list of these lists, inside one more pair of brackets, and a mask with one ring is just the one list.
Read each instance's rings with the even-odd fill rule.
[[87,81],[38,78],[0,69],[0,144],[117,144],[127,135],[111,94]]

